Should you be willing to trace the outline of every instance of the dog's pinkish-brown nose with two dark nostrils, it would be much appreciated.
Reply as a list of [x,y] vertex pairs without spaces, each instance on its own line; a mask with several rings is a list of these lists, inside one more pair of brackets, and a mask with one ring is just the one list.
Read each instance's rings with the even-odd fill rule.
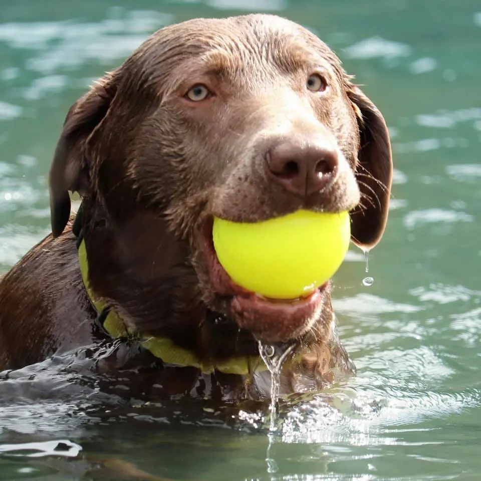
[[269,176],[286,190],[308,197],[331,184],[339,165],[334,146],[283,140],[266,153]]

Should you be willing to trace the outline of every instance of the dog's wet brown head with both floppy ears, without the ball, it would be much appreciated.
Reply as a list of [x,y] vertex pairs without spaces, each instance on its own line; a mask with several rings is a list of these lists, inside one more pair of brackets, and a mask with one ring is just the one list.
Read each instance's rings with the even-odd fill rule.
[[349,210],[353,242],[371,248],[391,174],[381,113],[315,35],[267,15],[192,20],[155,33],[72,106],[50,173],[52,230],[78,191],[130,256],[125,276],[181,286],[175,306],[283,341],[322,317],[328,288],[295,302],[239,288],[213,251],[213,216]]

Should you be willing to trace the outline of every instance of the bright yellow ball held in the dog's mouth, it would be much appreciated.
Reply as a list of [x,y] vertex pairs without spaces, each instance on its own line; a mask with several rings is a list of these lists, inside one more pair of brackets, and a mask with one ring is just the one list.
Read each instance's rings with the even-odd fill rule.
[[298,210],[257,223],[214,218],[214,249],[230,278],[271,299],[296,299],[339,269],[351,236],[348,212]]

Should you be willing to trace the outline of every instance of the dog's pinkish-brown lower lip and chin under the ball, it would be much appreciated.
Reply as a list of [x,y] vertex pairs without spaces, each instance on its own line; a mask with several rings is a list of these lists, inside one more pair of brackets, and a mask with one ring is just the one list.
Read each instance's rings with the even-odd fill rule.
[[203,223],[201,244],[209,290],[214,293],[212,307],[256,339],[270,343],[299,339],[321,315],[329,283],[298,299],[269,299],[235,284],[220,265],[213,246],[212,219]]

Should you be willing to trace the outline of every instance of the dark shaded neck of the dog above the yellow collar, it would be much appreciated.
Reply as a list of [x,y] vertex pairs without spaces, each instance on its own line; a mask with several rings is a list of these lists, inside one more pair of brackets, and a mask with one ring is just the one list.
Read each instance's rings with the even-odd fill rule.
[[206,308],[186,262],[188,245],[164,221],[141,212],[114,228],[94,212],[83,205],[74,227],[83,233],[89,284],[129,331],[168,338],[200,358],[258,356],[252,334]]

